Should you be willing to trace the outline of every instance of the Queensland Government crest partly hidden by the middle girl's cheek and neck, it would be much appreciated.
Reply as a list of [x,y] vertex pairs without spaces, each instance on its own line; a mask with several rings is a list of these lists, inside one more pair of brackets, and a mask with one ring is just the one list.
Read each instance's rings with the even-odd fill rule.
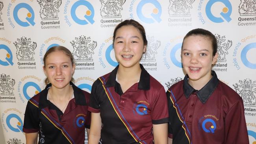
[[155,40],[154,36],[148,37],[148,45],[145,54],[141,57],[141,65],[145,67],[145,70],[157,70],[156,54],[157,49],[161,46],[161,42]]

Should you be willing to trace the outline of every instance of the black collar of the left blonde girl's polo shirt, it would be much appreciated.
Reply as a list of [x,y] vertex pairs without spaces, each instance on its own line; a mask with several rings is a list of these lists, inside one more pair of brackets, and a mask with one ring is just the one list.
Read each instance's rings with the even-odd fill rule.
[[[86,100],[85,96],[83,94],[83,90],[79,89],[74,85],[74,83],[70,82],[70,85],[72,85],[72,88],[74,90],[74,98],[75,98],[75,103],[77,105],[86,105]],[[47,94],[48,94],[48,88],[51,87],[52,84],[49,83],[46,85],[45,89],[40,92],[40,98],[39,98],[39,109],[43,109],[49,105],[48,100],[47,100]]]

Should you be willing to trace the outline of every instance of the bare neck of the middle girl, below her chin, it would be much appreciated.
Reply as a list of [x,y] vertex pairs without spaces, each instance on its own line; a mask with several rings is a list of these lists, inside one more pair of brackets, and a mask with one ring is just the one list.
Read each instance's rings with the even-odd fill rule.
[[139,81],[141,75],[141,67],[138,65],[130,68],[119,65],[117,70],[117,79],[119,81]]

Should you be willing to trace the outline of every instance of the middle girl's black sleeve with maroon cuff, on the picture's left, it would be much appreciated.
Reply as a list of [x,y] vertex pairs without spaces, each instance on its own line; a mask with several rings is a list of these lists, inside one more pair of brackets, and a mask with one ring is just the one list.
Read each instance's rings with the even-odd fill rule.
[[97,79],[93,83],[93,86],[91,89],[91,96],[90,96],[88,111],[90,111],[92,113],[100,113],[100,103],[99,103],[98,91],[103,90],[103,89],[100,89],[101,85],[102,85],[102,83],[100,82],[99,79]]

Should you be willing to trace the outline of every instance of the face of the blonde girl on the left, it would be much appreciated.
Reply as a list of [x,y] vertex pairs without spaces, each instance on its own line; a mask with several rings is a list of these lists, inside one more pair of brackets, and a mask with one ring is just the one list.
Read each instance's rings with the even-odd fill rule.
[[63,89],[69,85],[75,66],[68,55],[55,51],[48,54],[43,69],[52,87]]

